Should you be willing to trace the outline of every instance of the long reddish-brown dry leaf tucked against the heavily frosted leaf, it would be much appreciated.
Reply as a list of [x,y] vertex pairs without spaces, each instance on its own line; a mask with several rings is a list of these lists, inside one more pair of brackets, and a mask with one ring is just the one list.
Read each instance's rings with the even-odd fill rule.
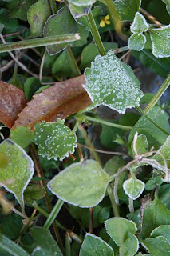
[[37,122],[56,122],[57,118],[64,119],[70,114],[91,104],[91,100],[82,87],[84,75],[57,82],[54,86],[34,95],[28,105],[18,115],[12,129],[18,126],[33,128]]

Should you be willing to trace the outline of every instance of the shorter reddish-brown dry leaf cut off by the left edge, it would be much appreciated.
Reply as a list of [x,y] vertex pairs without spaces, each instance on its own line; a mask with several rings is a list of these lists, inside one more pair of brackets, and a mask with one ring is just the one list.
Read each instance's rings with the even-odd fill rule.
[[25,106],[23,91],[0,81],[0,122],[11,128]]

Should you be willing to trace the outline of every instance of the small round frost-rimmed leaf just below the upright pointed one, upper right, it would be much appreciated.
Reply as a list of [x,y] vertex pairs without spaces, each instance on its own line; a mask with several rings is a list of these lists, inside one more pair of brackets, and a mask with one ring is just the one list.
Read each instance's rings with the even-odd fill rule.
[[128,49],[130,50],[143,50],[146,42],[144,34],[134,33],[128,38]]

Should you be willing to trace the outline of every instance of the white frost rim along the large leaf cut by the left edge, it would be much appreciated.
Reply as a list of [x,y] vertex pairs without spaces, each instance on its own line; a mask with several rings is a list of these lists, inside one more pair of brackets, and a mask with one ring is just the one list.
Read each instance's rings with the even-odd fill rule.
[[11,140],[8,139],[8,138],[7,138],[6,140],[4,140],[4,141],[1,143],[1,145],[2,145],[3,143],[5,143],[5,142],[10,142],[10,143],[13,144],[14,146],[17,146],[18,149],[22,151],[22,154],[24,154],[24,156],[29,160],[29,163],[30,163],[30,169],[29,169],[29,170],[30,170],[30,178],[28,178],[28,180],[27,180],[25,186],[24,186],[23,189],[22,189],[22,202],[20,202],[19,198],[16,196],[16,194],[14,193],[14,191],[10,190],[6,185],[3,184],[3,187],[5,187],[5,189],[6,189],[7,191],[9,191],[10,193],[14,194],[14,197],[17,199],[18,203],[19,203],[19,204],[22,203],[22,204],[23,204],[22,206],[24,206],[24,190],[26,190],[26,186],[28,186],[28,184],[29,184],[31,178],[33,178],[33,174],[34,174],[34,162],[33,162],[33,160],[30,158],[30,156],[29,156],[28,154],[26,154],[26,151],[23,150],[21,146],[19,146],[18,144],[16,144],[15,142],[11,141]]

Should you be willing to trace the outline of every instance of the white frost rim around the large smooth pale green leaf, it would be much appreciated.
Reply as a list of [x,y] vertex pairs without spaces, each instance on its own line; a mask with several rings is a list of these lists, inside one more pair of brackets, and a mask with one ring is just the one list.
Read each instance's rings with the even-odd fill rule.
[[[89,159],[89,160],[86,160],[85,162],[96,162],[96,161],[95,161],[95,160],[92,160],[92,159]],[[75,162],[75,163],[73,163],[71,166],[79,166],[80,164],[81,164],[81,162]],[[70,202],[70,201],[68,201],[68,200],[65,200],[65,198],[62,198],[59,194],[55,193],[55,192],[51,189],[51,187],[50,187],[50,185],[51,185],[51,183],[53,182],[53,180],[54,180],[57,176],[62,175],[62,174],[64,174],[65,172],[67,172],[68,169],[69,169],[69,167],[70,167],[70,166],[66,167],[65,170],[62,170],[59,174],[57,174],[55,177],[53,177],[53,178],[49,181],[49,183],[47,184],[48,189],[51,191],[51,193],[55,194],[55,195],[57,196],[57,198],[60,198],[62,201],[68,202],[69,204],[71,204],[71,205],[73,205],[73,206],[79,206],[79,207],[81,207],[81,208],[89,208],[89,207],[97,206],[97,205],[103,200],[103,198],[105,198],[105,193],[106,193],[107,187],[108,187],[108,185],[109,185],[109,182],[112,180],[112,178],[109,176],[109,174],[106,174],[106,173],[104,172],[104,170],[103,170],[104,174],[106,174],[106,176],[109,177],[109,181],[106,182],[106,184],[105,184],[105,190],[104,190],[103,195],[102,195],[101,198],[97,201],[96,204],[90,205],[90,206],[89,206],[89,205],[88,205],[88,206],[81,206],[80,204],[77,204],[77,203],[74,203],[74,202]]]

